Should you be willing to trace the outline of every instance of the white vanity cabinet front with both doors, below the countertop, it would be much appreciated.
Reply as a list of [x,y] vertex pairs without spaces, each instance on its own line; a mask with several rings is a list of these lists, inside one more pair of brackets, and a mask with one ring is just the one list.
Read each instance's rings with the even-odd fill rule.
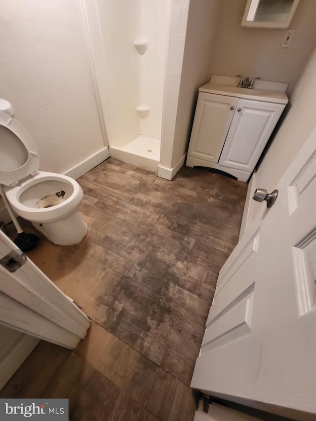
[[186,165],[216,168],[246,182],[284,107],[199,92]]

